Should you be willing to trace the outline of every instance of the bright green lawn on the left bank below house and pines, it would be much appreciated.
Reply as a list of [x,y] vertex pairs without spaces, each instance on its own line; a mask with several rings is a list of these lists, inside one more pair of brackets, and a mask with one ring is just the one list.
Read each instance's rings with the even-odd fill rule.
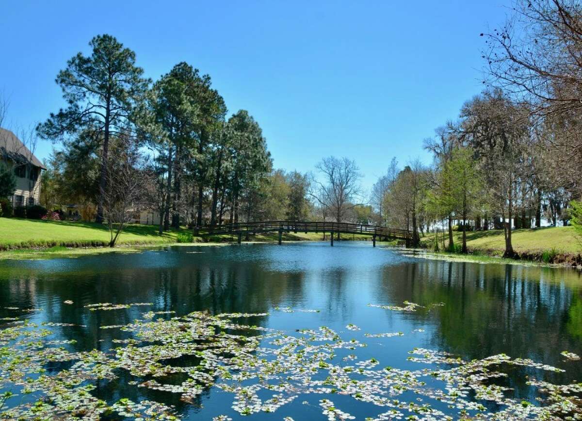
[[[176,242],[182,231],[158,234],[153,225],[128,225],[119,244],[161,244]],[[109,242],[106,225],[94,222],[39,221],[0,218],[0,248],[102,246]]]

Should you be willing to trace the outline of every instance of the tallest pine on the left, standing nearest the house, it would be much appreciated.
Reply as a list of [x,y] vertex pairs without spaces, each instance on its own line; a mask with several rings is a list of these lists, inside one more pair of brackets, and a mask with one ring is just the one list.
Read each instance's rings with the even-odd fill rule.
[[[51,113],[46,122],[37,126],[37,131],[45,139],[62,140],[64,137],[66,151],[72,152],[70,156],[81,152],[75,160],[79,167],[70,167],[81,168],[81,171],[74,171],[72,176],[65,178],[65,185],[85,181],[86,175],[97,179],[91,172],[82,171],[84,164],[97,160],[100,185],[104,188],[109,138],[134,127],[144,108],[150,81],[142,77],[143,69],[135,65],[135,53],[123,47],[115,37],[99,35],[89,45],[91,55],[77,53],[56,76],[67,107]],[[81,183],[85,188],[75,189],[76,193],[100,196],[100,190],[95,191],[94,185],[94,182]],[[102,219],[102,198],[98,219]]]

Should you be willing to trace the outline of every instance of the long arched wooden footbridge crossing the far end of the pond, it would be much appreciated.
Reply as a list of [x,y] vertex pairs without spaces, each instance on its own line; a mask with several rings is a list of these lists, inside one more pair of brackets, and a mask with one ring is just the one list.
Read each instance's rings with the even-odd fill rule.
[[334,234],[359,234],[372,237],[372,243],[376,246],[376,239],[404,240],[408,244],[412,235],[406,229],[377,227],[375,225],[347,224],[344,222],[306,222],[306,221],[264,221],[264,222],[237,222],[236,224],[217,225],[215,227],[198,228],[198,235],[207,237],[211,235],[231,234],[238,236],[238,242],[247,234],[257,232],[279,232],[279,244],[282,242],[283,232],[329,232],[331,245],[333,246]]

